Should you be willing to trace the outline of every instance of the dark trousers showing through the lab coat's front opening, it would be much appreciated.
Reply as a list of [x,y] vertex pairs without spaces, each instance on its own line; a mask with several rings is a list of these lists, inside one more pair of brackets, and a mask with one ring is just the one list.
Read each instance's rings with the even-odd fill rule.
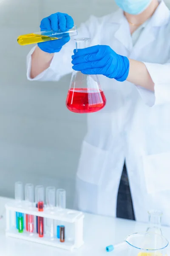
[[122,177],[120,180],[119,191],[117,195],[116,216],[117,218],[135,220],[126,165],[124,165],[123,167]]

